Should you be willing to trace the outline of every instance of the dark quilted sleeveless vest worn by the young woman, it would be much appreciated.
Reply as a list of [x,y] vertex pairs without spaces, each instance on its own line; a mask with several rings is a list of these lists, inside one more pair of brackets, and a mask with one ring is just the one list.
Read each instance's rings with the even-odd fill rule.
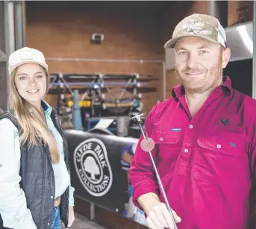
[[[16,119],[10,113],[4,113],[0,119],[10,119],[20,132],[21,127]],[[55,128],[63,137],[63,131],[60,127],[60,119],[57,116],[56,110],[52,109],[51,119],[54,122]],[[69,169],[68,163],[68,146],[66,138],[63,137],[63,149],[65,154],[65,163]],[[25,192],[27,207],[31,210],[31,214],[37,229],[51,228],[52,211],[54,207],[54,172],[51,166],[51,157],[48,146],[39,145],[31,146],[22,145],[20,159],[20,172],[22,180],[20,186]],[[60,219],[67,228],[69,213],[69,188],[61,195],[60,202]],[[0,229],[1,225],[0,215]]]

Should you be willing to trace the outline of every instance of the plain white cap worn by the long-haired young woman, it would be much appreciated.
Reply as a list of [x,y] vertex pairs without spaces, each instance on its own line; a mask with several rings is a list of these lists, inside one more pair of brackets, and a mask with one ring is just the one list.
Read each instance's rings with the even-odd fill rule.
[[9,74],[13,72],[16,67],[21,66],[24,63],[38,63],[43,66],[48,72],[48,65],[43,53],[34,48],[20,48],[10,54],[9,57]]

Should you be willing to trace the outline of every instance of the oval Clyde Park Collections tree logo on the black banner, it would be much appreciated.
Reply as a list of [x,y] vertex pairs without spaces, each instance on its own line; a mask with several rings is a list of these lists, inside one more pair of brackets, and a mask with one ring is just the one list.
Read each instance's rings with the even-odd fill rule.
[[82,185],[94,196],[105,195],[113,175],[104,143],[96,138],[81,142],[74,153],[75,170]]

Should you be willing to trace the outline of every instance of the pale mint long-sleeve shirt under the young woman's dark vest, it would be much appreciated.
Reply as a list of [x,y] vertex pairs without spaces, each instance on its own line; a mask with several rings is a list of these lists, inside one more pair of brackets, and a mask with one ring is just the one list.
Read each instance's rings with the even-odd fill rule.
[[[52,165],[55,180],[55,198],[69,186],[69,206],[74,206],[74,188],[70,185],[63,152],[63,139],[51,120],[51,107],[43,101],[49,131],[54,135],[60,151],[60,162]],[[0,120],[0,213],[4,227],[36,229],[31,211],[27,208],[25,193],[19,186],[21,177],[19,133],[9,119]]]

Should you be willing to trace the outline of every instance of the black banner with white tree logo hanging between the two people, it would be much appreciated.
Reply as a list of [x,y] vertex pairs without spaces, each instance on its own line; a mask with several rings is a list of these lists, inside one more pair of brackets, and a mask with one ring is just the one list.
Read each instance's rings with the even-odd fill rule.
[[120,153],[137,139],[65,130],[75,195],[111,211],[122,211],[128,202],[128,178]]

